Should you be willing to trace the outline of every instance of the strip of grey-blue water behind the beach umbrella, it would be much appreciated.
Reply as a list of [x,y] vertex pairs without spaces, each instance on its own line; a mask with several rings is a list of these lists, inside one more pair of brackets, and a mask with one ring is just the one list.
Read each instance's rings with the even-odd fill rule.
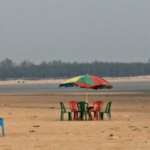
[[[127,92],[150,92],[150,82],[116,82],[112,83],[113,88],[109,89],[109,91],[127,91]],[[9,86],[0,86],[0,93],[36,93],[36,92],[80,92],[85,91],[85,89],[81,88],[65,88],[59,87],[57,84],[17,84],[17,85],[9,85]],[[88,90],[89,92],[95,91],[108,91],[107,89],[100,90]]]

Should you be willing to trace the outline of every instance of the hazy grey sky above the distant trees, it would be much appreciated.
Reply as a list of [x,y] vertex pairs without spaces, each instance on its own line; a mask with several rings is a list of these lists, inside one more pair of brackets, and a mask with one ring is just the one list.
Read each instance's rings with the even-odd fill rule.
[[150,0],[1,0],[0,60],[147,61]]

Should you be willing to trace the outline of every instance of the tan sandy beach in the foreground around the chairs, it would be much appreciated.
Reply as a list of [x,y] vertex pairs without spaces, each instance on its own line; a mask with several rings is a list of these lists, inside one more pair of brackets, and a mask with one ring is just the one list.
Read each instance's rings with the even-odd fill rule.
[[112,119],[59,121],[59,101],[82,100],[81,94],[1,94],[5,137],[0,150],[150,150],[150,95],[89,95],[111,100]]

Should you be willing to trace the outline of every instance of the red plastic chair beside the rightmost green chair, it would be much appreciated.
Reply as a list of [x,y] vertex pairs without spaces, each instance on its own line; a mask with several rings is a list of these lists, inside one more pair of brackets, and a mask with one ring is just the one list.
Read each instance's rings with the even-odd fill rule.
[[103,105],[103,102],[102,101],[95,101],[93,103],[93,112],[94,112],[94,119],[95,120],[98,120],[99,118],[99,112],[101,111],[102,109],[102,105]]

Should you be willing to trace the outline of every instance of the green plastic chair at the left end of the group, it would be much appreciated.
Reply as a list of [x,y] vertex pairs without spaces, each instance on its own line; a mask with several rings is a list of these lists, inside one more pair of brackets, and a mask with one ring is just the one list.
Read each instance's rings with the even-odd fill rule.
[[63,102],[60,102],[60,120],[64,120],[64,114],[68,114],[68,120],[72,120],[72,115],[70,111],[67,111]]

